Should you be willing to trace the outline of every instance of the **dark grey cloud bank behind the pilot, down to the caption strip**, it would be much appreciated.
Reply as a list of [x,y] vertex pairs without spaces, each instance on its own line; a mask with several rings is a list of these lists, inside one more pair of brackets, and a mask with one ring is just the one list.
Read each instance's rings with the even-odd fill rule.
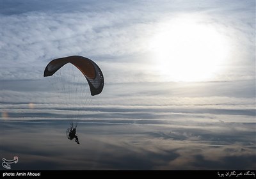
[[[19,128],[17,124],[19,123]],[[19,157],[13,169],[253,169],[250,134],[159,125],[79,123],[80,145],[65,138],[65,121],[4,122],[4,157]],[[176,132],[167,132],[176,130]],[[36,132],[35,132],[36,131]],[[206,132],[206,133],[205,133]],[[158,134],[157,134],[158,133]],[[17,136],[19,134],[19,136]],[[168,137],[164,137],[168,136]],[[232,139],[223,136],[230,136]],[[17,140],[20,139],[24,140]],[[247,137],[247,141],[237,141]],[[40,141],[38,144],[36,141]],[[61,150],[60,150],[61,149]],[[72,154],[70,154],[72,152]],[[237,165],[237,161],[244,161]],[[239,163],[239,162],[238,162]]]

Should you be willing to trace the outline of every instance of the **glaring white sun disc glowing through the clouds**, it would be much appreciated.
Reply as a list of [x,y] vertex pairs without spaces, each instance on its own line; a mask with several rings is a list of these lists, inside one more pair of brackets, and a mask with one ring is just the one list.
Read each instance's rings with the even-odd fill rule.
[[160,23],[150,40],[155,70],[167,81],[208,81],[223,70],[225,37],[191,17]]

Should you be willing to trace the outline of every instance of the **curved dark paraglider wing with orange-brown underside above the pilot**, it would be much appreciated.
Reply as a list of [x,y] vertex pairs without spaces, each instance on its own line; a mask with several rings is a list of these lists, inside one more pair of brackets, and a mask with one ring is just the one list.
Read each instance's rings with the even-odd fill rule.
[[96,63],[83,56],[68,56],[65,58],[53,59],[45,67],[44,77],[53,75],[67,63],[72,63],[72,65],[76,66],[83,73],[90,86],[92,96],[101,93],[104,86],[103,74]]

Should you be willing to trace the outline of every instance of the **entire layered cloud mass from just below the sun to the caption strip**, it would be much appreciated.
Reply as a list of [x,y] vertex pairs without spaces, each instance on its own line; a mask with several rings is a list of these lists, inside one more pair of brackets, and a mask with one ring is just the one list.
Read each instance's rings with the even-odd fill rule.
[[[34,93],[37,89],[30,86],[37,85],[26,85],[34,82],[44,84],[4,81],[1,91],[1,112],[8,114],[1,118],[1,151],[5,158],[19,157],[15,169],[255,167],[255,100],[253,93],[248,95],[249,89],[232,91],[227,97],[223,94],[227,86],[216,90],[220,82],[195,83],[194,87],[192,83],[158,83],[161,88],[150,82],[143,87],[140,83],[137,87],[108,84],[106,93],[94,103],[73,110],[54,99],[49,86]],[[10,90],[13,84],[16,90]],[[250,81],[243,84],[254,89]],[[228,87],[239,86],[232,85]],[[170,96],[157,94],[159,88],[170,91]],[[211,90],[198,97],[196,91],[205,88]],[[65,136],[70,121],[78,123],[79,146]]]

